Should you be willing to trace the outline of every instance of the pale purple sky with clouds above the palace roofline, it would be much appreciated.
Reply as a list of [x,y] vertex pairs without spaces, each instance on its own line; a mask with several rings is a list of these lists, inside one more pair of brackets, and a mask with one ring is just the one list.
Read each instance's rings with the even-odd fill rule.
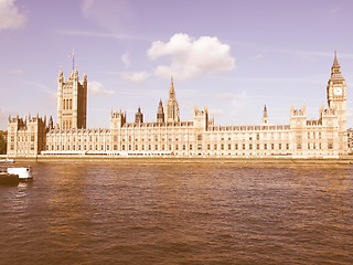
[[338,51],[353,125],[353,1],[0,0],[0,129],[9,114],[53,116],[57,75],[75,53],[88,76],[87,126],[138,107],[154,121],[173,76],[182,120],[207,107],[220,125],[289,124],[327,106]]

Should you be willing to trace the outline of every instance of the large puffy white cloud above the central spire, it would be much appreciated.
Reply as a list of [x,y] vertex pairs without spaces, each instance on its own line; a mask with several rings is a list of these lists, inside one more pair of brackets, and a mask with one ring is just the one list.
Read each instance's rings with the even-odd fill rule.
[[235,67],[231,46],[223,44],[215,36],[194,39],[188,34],[174,34],[169,42],[152,42],[148,56],[157,60],[169,56],[171,65],[159,65],[154,74],[162,77],[175,76],[186,80],[205,73],[228,72]]

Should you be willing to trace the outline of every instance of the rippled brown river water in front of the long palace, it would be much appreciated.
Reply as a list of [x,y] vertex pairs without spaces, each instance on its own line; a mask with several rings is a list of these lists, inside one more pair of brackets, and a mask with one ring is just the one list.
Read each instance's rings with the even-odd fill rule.
[[31,166],[0,264],[353,264],[353,166]]

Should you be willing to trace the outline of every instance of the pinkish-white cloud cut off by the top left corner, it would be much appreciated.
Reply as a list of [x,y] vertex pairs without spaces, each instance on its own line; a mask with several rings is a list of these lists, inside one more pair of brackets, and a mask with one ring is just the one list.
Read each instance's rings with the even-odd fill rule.
[[22,26],[26,17],[19,12],[15,0],[0,0],[0,30],[18,29]]

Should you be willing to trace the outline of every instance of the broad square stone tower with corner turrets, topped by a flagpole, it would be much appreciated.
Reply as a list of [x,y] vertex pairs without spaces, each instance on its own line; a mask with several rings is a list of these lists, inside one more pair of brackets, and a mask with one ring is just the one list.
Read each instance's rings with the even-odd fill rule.
[[64,82],[62,67],[57,78],[57,124],[60,129],[85,129],[87,119],[87,74],[82,83],[78,71],[73,70]]

